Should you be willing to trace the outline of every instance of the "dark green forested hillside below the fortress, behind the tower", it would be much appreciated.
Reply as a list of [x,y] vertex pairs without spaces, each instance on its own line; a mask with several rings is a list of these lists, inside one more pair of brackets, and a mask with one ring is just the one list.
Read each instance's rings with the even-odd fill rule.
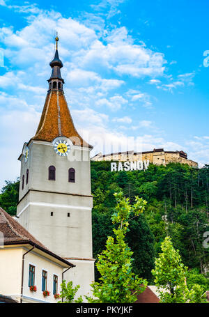
[[[0,206],[11,215],[15,214],[18,185],[18,181],[7,182],[0,195]],[[137,195],[148,201],[144,215],[132,219],[127,234],[134,252],[134,271],[152,282],[154,258],[162,240],[170,235],[190,269],[188,283],[198,279],[209,288],[208,280],[198,275],[206,275],[209,263],[209,248],[203,247],[203,233],[209,231],[209,166],[194,169],[178,163],[167,167],[150,164],[146,171],[111,172],[110,162],[91,162],[91,186],[95,258],[112,234],[113,194],[122,190],[131,203]]]

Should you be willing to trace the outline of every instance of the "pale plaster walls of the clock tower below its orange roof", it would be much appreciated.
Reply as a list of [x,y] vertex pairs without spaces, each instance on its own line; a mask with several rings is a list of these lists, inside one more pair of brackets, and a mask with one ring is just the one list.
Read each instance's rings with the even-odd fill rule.
[[[50,142],[42,141],[33,141],[29,149],[29,160],[21,159],[21,179],[29,169],[29,185],[24,190],[20,186],[18,221],[55,254],[92,258],[90,150],[72,146],[67,157],[60,157]],[[48,180],[51,165],[56,167],[56,180]],[[75,183],[68,182],[71,167],[75,169]],[[81,286],[82,295],[90,291],[93,265],[94,261],[78,262],[77,276],[73,275],[72,281]]]

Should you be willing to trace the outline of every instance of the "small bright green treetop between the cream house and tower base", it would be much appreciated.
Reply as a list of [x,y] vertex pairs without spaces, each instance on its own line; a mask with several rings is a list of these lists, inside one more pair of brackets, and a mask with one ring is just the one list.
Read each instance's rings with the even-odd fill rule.
[[68,284],[66,284],[66,281],[64,279],[61,284],[61,293],[60,293],[60,297],[63,298],[63,301],[59,300],[59,303],[83,302],[82,296],[79,296],[77,300],[74,300],[75,295],[79,288],[80,288],[79,285],[73,288],[72,281],[69,281]]

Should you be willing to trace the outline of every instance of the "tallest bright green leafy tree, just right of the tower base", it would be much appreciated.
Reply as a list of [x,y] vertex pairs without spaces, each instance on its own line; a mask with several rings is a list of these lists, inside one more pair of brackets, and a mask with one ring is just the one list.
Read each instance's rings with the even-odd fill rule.
[[106,249],[98,256],[96,266],[100,272],[100,281],[91,284],[93,298],[86,296],[88,302],[121,303],[135,302],[137,293],[145,290],[147,281],[132,272],[132,251],[125,242],[130,219],[138,217],[144,211],[146,201],[135,198],[133,206],[123,192],[114,194],[116,208],[111,219],[117,228],[113,229],[115,238],[109,236]]

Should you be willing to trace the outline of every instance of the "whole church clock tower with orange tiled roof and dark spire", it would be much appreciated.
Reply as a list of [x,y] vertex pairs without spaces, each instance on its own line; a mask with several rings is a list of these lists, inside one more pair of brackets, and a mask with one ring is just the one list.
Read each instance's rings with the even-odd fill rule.
[[90,151],[73,124],[63,92],[63,63],[56,52],[36,135],[24,144],[18,221],[55,254],[76,265],[64,279],[86,295],[94,280]]

